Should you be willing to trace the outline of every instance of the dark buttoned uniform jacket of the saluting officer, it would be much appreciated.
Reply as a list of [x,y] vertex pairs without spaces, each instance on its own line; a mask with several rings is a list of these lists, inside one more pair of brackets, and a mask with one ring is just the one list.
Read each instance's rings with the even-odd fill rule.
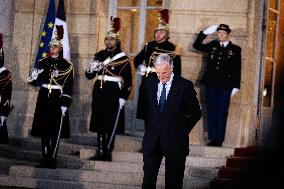
[[226,47],[221,47],[217,40],[202,44],[205,38],[206,35],[200,32],[193,44],[194,48],[208,53],[201,83],[221,89],[240,88],[241,48],[231,41]]

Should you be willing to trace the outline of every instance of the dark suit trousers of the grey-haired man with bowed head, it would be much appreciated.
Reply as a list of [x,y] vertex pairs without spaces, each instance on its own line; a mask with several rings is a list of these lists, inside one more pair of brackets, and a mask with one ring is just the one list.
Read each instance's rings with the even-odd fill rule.
[[[156,189],[157,176],[163,154],[159,142],[150,155],[143,155],[142,189]],[[165,157],[165,189],[182,189],[186,157],[175,155]]]

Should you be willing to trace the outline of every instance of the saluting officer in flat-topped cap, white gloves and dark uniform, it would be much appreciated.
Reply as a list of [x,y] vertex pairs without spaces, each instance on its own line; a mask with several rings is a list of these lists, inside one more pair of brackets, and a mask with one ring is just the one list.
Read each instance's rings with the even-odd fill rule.
[[[218,40],[203,44],[217,31]],[[231,29],[226,24],[212,25],[201,31],[193,47],[208,54],[201,83],[206,87],[206,110],[209,146],[222,146],[230,98],[240,89],[241,48],[229,40]]]

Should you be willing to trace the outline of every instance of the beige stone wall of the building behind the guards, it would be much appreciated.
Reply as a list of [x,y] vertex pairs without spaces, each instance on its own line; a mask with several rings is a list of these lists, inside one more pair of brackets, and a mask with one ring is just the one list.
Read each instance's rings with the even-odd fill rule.
[[[14,108],[8,117],[11,136],[27,136],[31,128],[38,90],[27,84],[29,69],[36,56],[40,33],[45,21],[48,0],[1,0],[0,32],[4,33],[6,67],[13,73]],[[56,0],[56,5],[58,0]],[[252,144],[255,135],[258,70],[258,29],[260,12],[258,0],[171,0],[171,41],[183,49],[182,75],[196,83],[202,104],[202,86],[198,85],[205,58],[195,51],[192,43],[198,32],[211,24],[226,23],[232,28],[231,40],[242,47],[241,90],[233,97],[228,117],[224,145]],[[57,7],[57,6],[56,6]],[[72,132],[88,130],[92,81],[84,72],[94,52],[104,48],[108,23],[108,1],[65,0],[71,60],[75,65],[74,101],[70,109]],[[137,84],[137,82],[136,82]],[[137,87],[135,88],[137,93]],[[130,133],[141,129],[135,119],[136,96],[128,101],[126,126]],[[206,142],[205,123],[201,120],[190,134],[191,143]]]

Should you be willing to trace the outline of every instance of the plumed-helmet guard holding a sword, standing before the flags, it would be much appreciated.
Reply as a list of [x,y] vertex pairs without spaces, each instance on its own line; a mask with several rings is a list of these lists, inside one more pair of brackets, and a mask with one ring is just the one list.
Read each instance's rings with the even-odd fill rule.
[[42,160],[37,167],[56,168],[60,138],[70,137],[68,108],[72,101],[73,64],[62,51],[63,27],[49,43],[49,55],[32,70],[28,82],[39,86],[31,134],[41,137]]

